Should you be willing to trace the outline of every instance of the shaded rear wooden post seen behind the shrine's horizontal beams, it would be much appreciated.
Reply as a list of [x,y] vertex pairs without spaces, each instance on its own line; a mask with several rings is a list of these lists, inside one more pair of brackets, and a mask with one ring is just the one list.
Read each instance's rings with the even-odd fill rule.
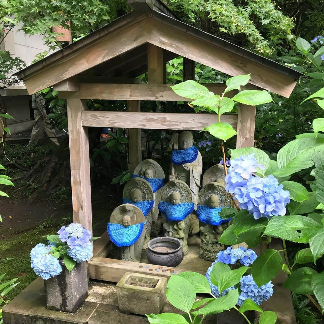
[[[128,100],[128,111],[141,111],[139,100]],[[129,171],[133,174],[137,165],[142,162],[142,135],[140,128],[128,129]]]

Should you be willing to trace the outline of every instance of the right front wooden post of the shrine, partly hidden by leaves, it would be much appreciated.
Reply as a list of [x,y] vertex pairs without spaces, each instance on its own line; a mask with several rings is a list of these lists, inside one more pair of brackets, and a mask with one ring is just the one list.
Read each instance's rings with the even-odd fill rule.
[[[242,90],[256,90],[257,87],[248,84]],[[238,104],[236,148],[254,146],[255,106]]]

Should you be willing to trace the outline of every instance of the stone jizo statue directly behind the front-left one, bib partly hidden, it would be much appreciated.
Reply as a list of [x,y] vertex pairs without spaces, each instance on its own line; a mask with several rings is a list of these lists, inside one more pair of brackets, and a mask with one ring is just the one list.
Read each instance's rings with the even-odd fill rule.
[[154,194],[152,187],[143,178],[130,179],[124,187],[122,202],[130,203],[143,212],[146,220],[143,249],[146,250],[153,221]]

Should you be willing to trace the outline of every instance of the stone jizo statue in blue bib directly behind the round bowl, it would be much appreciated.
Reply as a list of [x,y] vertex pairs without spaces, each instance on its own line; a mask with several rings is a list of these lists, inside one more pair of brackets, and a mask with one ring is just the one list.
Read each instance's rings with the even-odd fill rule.
[[161,190],[158,208],[162,213],[164,235],[181,239],[186,255],[191,213],[194,211],[190,188],[181,180],[169,181]]

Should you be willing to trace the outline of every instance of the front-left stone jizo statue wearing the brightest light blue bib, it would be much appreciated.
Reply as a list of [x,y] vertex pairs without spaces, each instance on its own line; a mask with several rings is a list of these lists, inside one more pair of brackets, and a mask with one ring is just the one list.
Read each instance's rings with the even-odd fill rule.
[[145,216],[132,204],[122,204],[111,213],[107,225],[111,242],[115,245],[115,255],[123,261],[140,262],[143,242]]

